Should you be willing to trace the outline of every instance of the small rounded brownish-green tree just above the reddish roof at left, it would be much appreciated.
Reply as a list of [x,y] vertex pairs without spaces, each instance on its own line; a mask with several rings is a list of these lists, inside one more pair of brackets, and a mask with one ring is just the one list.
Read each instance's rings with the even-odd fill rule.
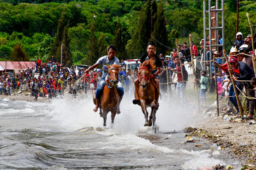
[[17,44],[12,49],[10,60],[13,60],[13,61],[28,61],[29,57],[24,52],[22,46]]

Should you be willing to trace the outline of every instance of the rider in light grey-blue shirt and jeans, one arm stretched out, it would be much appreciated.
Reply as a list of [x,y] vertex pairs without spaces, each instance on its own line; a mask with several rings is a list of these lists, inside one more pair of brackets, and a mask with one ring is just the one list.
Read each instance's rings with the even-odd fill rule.
[[[86,74],[90,70],[92,70],[95,67],[100,66],[100,65],[102,65],[102,68],[104,70],[102,80],[100,81],[100,83],[97,87],[96,93],[95,93],[96,106],[93,109],[93,111],[95,111],[95,112],[99,108],[100,96],[102,95],[104,86],[106,85],[105,79],[108,80],[108,67],[107,66],[111,66],[112,64],[119,65],[119,60],[117,59],[117,57],[115,57],[115,54],[116,54],[116,47],[114,45],[109,45],[108,55],[100,57],[99,60],[97,60],[97,62],[95,64],[93,64],[93,66],[90,66],[88,69],[86,69],[86,71],[84,71],[84,74]],[[120,81],[117,83],[116,87],[117,87],[117,90],[118,90],[118,94],[120,96],[120,100],[119,100],[118,107],[117,107],[117,113],[119,114],[120,113],[119,105],[120,105],[120,102],[122,100],[122,97],[124,96],[124,89],[123,89],[122,83],[120,83]]]

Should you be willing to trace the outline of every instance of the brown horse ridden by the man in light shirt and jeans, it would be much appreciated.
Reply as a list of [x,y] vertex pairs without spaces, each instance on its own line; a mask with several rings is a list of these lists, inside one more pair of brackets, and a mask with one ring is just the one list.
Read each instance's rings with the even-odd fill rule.
[[[106,76],[106,85],[103,93],[100,96],[100,117],[103,117],[103,125],[106,126],[108,112],[111,111],[111,123],[113,125],[116,113],[118,112],[118,103],[120,96],[118,94],[116,85],[118,83],[118,74],[120,67],[116,64],[108,67],[108,76]],[[93,103],[96,104],[95,95],[93,96]]]

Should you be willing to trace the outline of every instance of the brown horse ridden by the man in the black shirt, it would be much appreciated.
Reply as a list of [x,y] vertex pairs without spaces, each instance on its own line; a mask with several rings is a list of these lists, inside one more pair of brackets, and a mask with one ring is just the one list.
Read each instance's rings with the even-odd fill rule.
[[[141,110],[145,116],[145,124],[144,126],[151,126],[153,122],[153,131],[156,132],[155,122],[156,122],[156,84],[152,78],[152,74],[150,73],[154,70],[154,63],[152,60],[146,60],[143,62],[139,69],[139,97],[140,97],[140,105]],[[151,113],[148,120],[148,111],[147,107],[151,107]]]

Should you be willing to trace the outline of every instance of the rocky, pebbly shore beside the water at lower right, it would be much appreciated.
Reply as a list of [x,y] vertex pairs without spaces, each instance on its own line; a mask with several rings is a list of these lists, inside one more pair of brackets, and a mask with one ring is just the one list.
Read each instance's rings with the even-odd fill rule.
[[256,169],[256,121],[227,113],[225,101],[220,104],[219,117],[216,116],[216,104],[201,111],[204,121],[184,129],[188,136],[209,139],[230,158],[241,160],[242,169]]

